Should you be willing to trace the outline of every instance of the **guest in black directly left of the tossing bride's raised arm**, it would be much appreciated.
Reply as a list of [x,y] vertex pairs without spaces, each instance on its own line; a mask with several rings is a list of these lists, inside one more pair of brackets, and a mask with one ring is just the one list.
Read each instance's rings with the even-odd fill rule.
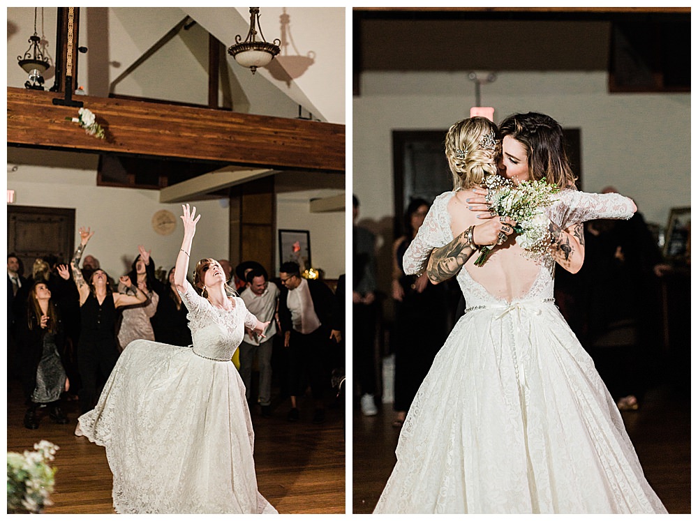
[[191,345],[188,310],[174,286],[174,268],[168,273],[168,281],[168,285],[161,287],[158,310],[151,318],[155,340],[170,345]]

